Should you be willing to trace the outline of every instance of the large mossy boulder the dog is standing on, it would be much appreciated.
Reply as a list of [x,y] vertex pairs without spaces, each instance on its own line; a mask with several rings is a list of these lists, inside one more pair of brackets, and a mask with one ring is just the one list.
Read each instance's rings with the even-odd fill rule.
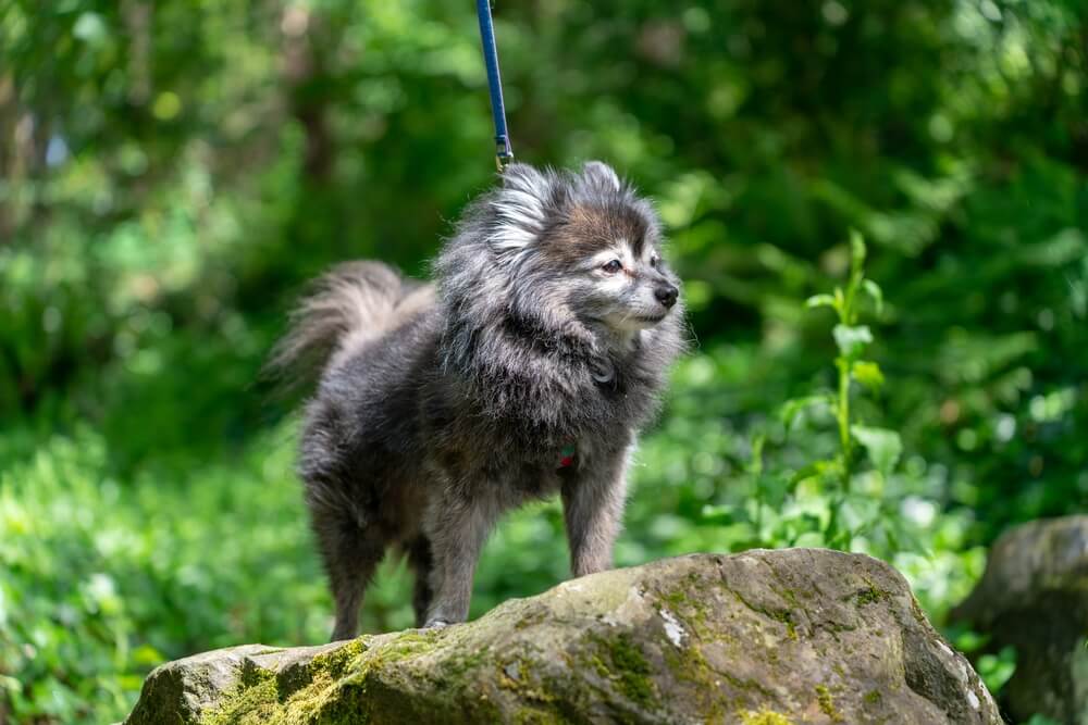
[[445,629],[200,654],[152,672],[127,721],[196,722],[1001,720],[894,570],[792,549],[596,574]]

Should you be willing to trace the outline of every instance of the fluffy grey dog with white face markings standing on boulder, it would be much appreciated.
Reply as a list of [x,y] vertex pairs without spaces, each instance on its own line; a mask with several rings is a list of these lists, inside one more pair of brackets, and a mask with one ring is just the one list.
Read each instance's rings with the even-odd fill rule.
[[562,497],[574,576],[608,568],[635,433],[679,353],[679,280],[651,205],[603,163],[506,168],[472,203],[435,284],[376,262],[318,282],[272,364],[321,365],[300,473],[354,637],[391,547],[418,624],[463,622],[499,515]]

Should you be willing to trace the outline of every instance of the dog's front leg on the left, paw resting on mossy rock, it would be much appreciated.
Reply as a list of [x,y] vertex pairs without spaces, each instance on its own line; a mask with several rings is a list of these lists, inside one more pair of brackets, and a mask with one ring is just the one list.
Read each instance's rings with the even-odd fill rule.
[[470,500],[447,489],[426,512],[424,528],[434,555],[431,588],[435,592],[424,627],[465,622],[472,600],[472,577],[480,550],[497,511],[487,501]]

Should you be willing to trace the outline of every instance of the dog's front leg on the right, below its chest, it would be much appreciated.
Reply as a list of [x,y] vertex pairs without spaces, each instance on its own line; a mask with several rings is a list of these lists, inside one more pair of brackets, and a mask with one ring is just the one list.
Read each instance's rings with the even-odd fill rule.
[[611,568],[613,543],[623,516],[629,451],[578,472],[562,486],[562,513],[577,576]]

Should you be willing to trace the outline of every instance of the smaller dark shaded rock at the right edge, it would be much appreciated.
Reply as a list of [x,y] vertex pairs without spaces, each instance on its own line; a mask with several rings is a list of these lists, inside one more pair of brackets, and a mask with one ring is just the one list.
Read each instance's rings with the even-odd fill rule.
[[1010,714],[1088,725],[1088,516],[1031,522],[998,539],[953,620],[1016,648]]

